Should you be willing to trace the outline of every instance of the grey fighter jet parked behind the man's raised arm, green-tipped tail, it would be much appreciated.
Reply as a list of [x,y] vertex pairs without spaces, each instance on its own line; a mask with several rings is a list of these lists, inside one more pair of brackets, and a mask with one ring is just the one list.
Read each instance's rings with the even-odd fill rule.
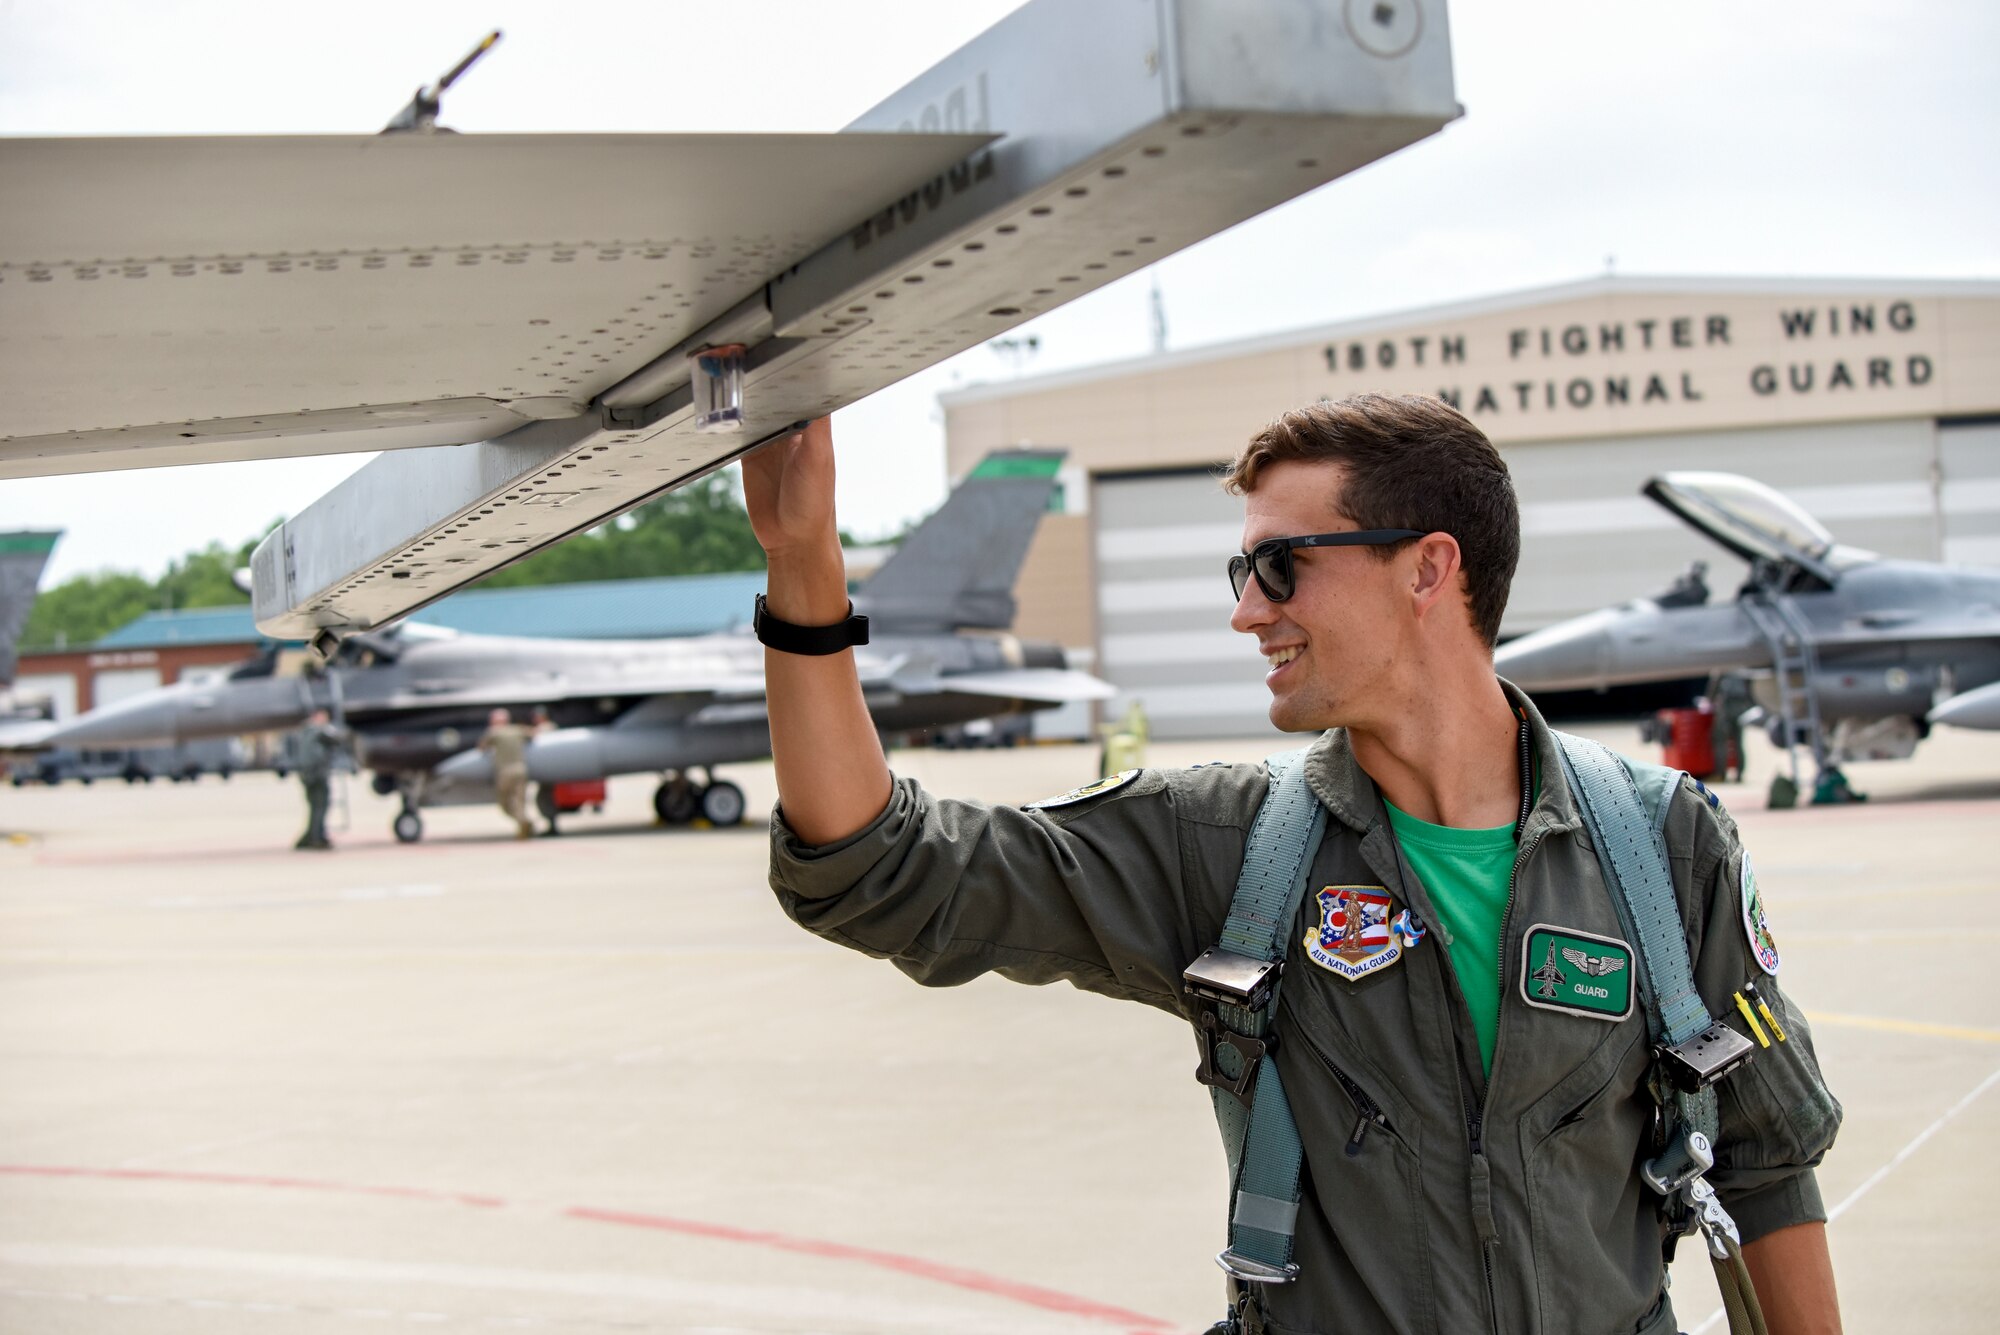
[[[1104,699],[1054,644],[1024,644],[1014,578],[1056,490],[1062,454],[986,458],[854,596],[872,640],[856,652],[884,733]],[[744,616],[748,620],[748,608]],[[358,737],[376,791],[402,793],[398,839],[422,837],[424,805],[490,801],[478,751],[492,709],[550,713],[528,745],[528,777],[554,783],[662,773],[662,821],[734,825],[744,793],[712,765],[770,753],[764,648],[748,634],[686,640],[528,640],[400,626],[346,640],[316,677],[270,660],[228,681],[168,685],[56,727],[46,745],[152,745],[294,727],[330,709]],[[544,801],[544,813],[548,813]]]

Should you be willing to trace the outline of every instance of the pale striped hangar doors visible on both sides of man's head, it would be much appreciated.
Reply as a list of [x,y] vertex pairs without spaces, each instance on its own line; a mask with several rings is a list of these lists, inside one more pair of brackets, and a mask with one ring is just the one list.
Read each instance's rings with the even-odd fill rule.
[[[1712,600],[1734,596],[1742,562],[1640,496],[1666,470],[1748,474],[1882,556],[2000,562],[2000,426],[1950,424],[1942,438],[1942,530],[1928,418],[1510,442],[1522,556],[1500,634],[1658,594],[1690,562],[1706,562]],[[1264,662],[1228,628],[1242,502],[1210,470],[1100,474],[1092,514],[1098,666],[1122,693],[1106,715],[1136,697],[1160,737],[1276,735]]]

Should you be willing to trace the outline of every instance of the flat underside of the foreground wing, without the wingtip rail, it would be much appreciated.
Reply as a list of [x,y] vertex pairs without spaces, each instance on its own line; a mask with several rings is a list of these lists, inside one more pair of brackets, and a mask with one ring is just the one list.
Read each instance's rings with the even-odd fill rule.
[[0,478],[584,416],[988,138],[0,138]]

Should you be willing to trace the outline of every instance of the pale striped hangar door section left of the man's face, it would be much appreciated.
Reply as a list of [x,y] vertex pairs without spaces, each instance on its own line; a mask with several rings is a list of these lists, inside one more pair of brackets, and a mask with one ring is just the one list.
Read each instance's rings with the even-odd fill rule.
[[1278,737],[1256,640],[1230,630],[1242,502],[1210,470],[1100,474],[1092,518],[1104,717],[1138,699],[1156,737]]

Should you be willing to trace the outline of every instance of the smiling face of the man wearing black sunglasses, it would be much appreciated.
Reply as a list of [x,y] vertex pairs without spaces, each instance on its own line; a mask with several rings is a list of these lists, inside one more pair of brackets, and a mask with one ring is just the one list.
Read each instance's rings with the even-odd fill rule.
[[[1338,510],[1340,464],[1282,460],[1244,498],[1244,552],[1266,538],[1362,528]],[[1282,604],[1250,580],[1230,628],[1256,636],[1268,671],[1270,721],[1282,731],[1366,725],[1386,703],[1410,620],[1408,548],[1390,560],[1364,548],[1294,548],[1294,592]],[[1400,590],[1400,596],[1398,596]]]

